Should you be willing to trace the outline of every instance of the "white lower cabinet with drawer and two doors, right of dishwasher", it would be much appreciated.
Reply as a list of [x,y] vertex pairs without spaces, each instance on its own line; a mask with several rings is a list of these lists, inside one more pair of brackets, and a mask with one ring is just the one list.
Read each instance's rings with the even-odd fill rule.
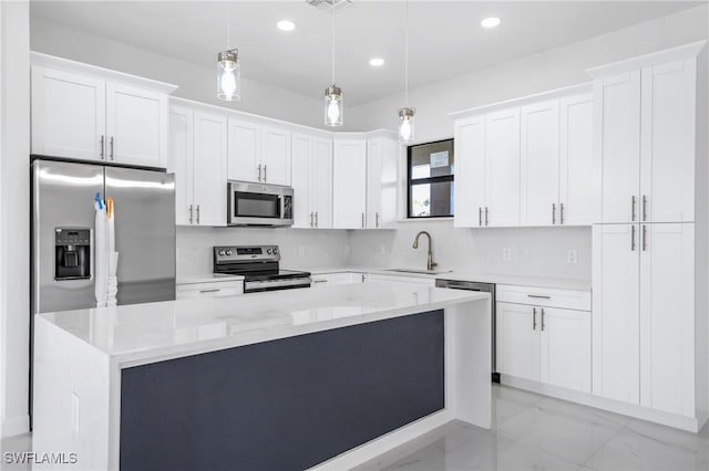
[[[530,304],[510,302],[526,292]],[[562,295],[562,293],[567,293]],[[590,305],[587,292],[497,287],[497,371],[576,391],[590,393]],[[585,311],[553,307],[567,301]],[[535,304],[531,304],[534,302]]]

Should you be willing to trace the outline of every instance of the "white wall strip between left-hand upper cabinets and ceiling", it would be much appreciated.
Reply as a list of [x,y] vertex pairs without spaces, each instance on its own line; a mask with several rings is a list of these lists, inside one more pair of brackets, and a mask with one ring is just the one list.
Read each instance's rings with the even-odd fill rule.
[[31,20],[30,27],[33,51],[173,83],[179,85],[174,95],[183,98],[323,127],[319,96],[250,81],[248,70],[243,72],[242,100],[220,102],[216,98],[216,62],[214,69],[204,67],[37,19]]

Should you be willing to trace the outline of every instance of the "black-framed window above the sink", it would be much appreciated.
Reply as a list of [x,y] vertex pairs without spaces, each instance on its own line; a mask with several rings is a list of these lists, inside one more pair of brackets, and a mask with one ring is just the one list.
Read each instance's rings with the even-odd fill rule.
[[410,146],[407,161],[409,218],[453,216],[453,139]]

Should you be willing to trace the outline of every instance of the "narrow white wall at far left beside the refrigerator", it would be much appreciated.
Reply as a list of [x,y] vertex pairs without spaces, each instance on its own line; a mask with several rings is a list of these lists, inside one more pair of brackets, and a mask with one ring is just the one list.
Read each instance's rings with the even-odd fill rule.
[[10,436],[29,427],[29,3],[0,9],[0,373],[2,436]]

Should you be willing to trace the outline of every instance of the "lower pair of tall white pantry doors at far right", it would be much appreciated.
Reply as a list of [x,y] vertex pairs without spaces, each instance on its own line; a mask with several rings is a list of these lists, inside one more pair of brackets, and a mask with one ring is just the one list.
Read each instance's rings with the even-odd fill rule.
[[695,224],[594,226],[594,394],[695,415]]

